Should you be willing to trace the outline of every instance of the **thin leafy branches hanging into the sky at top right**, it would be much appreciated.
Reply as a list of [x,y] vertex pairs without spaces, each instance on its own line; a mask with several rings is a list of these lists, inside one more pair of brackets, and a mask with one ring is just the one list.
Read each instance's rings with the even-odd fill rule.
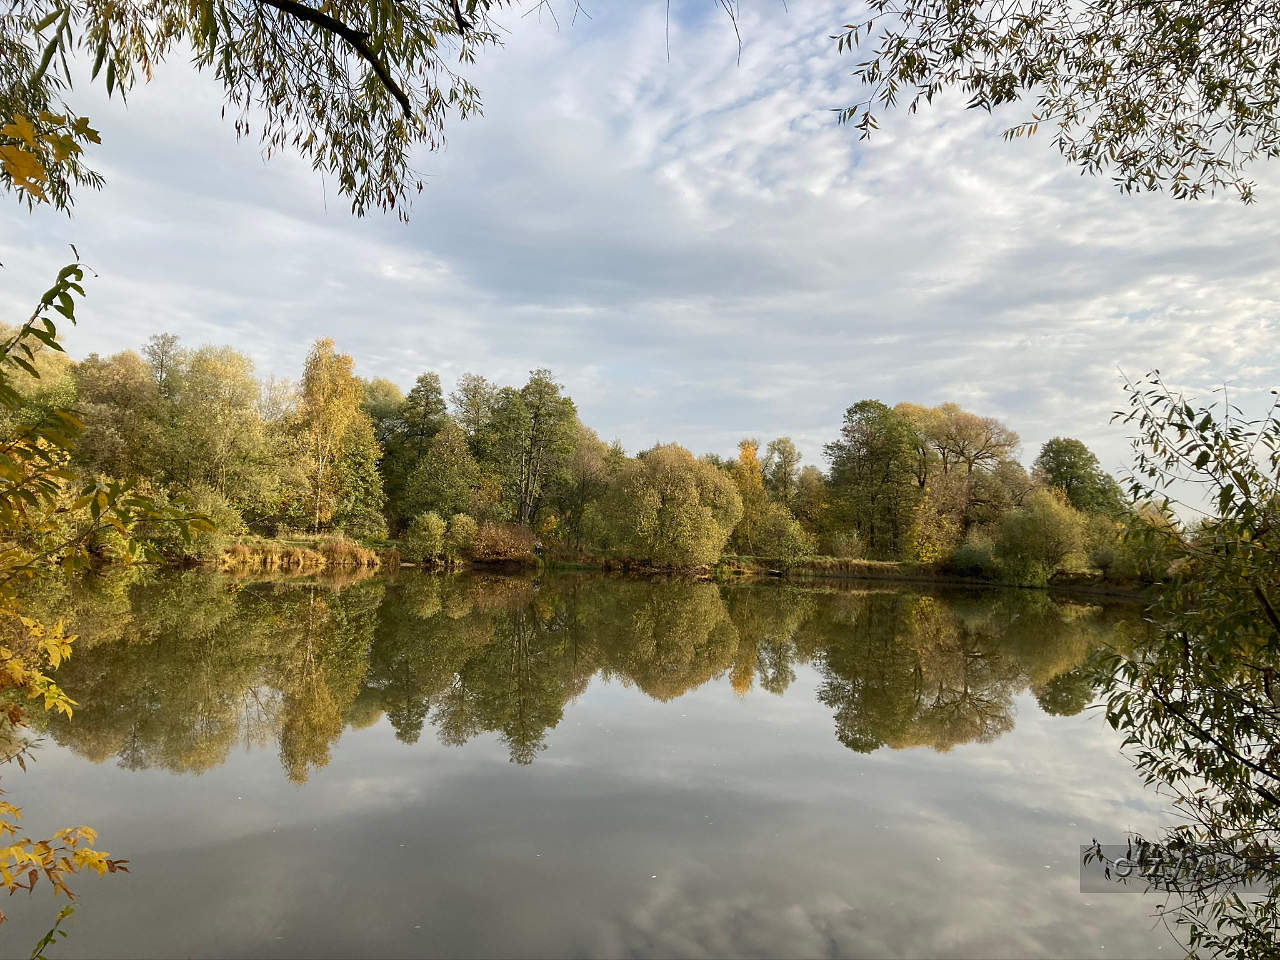
[[1068,163],[1129,191],[1253,200],[1252,161],[1280,152],[1280,22],[1258,0],[872,0],[846,24],[860,99],[841,120],[870,136],[877,111],[910,113],[946,90],[970,108],[1018,104],[1005,137],[1052,131]]

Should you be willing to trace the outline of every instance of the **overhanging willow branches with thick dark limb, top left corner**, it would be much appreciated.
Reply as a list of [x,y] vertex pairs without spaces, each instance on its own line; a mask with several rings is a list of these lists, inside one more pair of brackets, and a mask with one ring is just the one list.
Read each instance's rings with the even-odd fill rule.
[[238,136],[256,129],[268,155],[297,151],[332,177],[356,214],[403,215],[422,187],[412,151],[442,146],[452,111],[466,118],[480,109],[479,91],[454,64],[472,64],[497,42],[489,14],[503,5],[17,0],[0,18],[0,115],[23,123],[0,141],[0,180],[33,184],[28,196],[61,209],[76,187],[101,186],[81,156],[81,142],[97,134],[69,102],[67,51],[92,55],[93,77],[124,96],[180,50],[216,74]]

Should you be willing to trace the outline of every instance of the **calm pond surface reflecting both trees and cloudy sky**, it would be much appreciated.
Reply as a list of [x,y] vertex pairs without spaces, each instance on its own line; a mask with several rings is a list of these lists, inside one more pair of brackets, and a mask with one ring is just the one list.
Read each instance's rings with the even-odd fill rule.
[[[1132,608],[206,572],[37,604],[81,707],[5,787],[132,869],[79,879],[55,957],[1178,955],[1079,893],[1080,844],[1160,822],[1076,669]],[[5,955],[56,908],[5,904]]]

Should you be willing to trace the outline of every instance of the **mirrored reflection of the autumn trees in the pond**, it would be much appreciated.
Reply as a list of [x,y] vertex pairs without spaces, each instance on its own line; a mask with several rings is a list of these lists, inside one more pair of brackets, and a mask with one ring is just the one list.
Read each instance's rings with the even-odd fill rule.
[[59,682],[79,703],[47,735],[95,762],[201,772],[238,744],[279,750],[306,781],[347,728],[385,716],[397,739],[495,733],[531,763],[594,676],[673,700],[726,681],[780,695],[822,677],[835,735],[860,753],[950,750],[1014,724],[1032,690],[1078,713],[1091,649],[1134,626],[1124,608],[1043,593],[927,595],[787,585],[404,575],[243,582],[202,571],[32,600],[81,635]]

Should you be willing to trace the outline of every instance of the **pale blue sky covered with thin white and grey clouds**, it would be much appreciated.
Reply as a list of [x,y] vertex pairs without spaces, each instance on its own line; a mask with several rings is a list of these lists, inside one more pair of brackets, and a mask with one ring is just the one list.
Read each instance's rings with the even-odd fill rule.
[[182,58],[127,108],[83,90],[108,186],[69,220],[0,214],[0,310],[29,312],[76,243],[74,356],[170,332],[297,376],[328,335],[362,376],[445,392],[545,366],[631,452],[790,435],[819,465],[877,398],[1000,417],[1028,463],[1079,436],[1123,474],[1124,375],[1249,408],[1280,385],[1280,165],[1253,206],[1126,196],[955,97],[860,142],[832,114],[859,92],[829,40],[847,4],[744,4],[740,51],[712,0],[673,0],[669,60],[662,3],[586,10],[499,18],[485,114],[419,159],[408,224],[238,142]]

